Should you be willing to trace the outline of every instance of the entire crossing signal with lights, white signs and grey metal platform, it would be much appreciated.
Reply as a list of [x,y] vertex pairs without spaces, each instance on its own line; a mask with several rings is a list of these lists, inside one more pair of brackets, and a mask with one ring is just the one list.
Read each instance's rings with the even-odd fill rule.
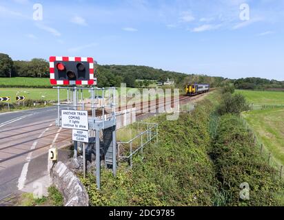
[[[105,159],[106,165],[111,165],[113,174],[116,175],[116,113],[115,113],[115,91],[110,88],[112,95],[108,104],[104,102],[105,89],[97,88],[97,78],[94,77],[93,58],[81,57],[50,57],[50,83],[57,85],[53,87],[58,91],[57,102],[57,126],[72,129],[74,140],[74,157],[77,157],[77,147],[83,148],[83,170],[85,175],[85,148],[91,147],[96,155],[96,179],[97,188],[101,187],[101,148],[106,155],[112,155],[111,161]],[[67,86],[67,87],[62,87]],[[60,91],[67,89],[68,100],[66,104],[61,103]],[[91,104],[86,104],[83,91],[88,89],[91,93]],[[69,102],[69,91],[72,92],[72,102]],[[95,91],[97,96],[95,96]],[[103,103],[99,104],[101,93]],[[81,96],[81,97],[79,97]],[[81,103],[79,102],[79,98]],[[103,131],[103,146],[100,146],[100,131]],[[111,134],[111,135],[110,135]]]

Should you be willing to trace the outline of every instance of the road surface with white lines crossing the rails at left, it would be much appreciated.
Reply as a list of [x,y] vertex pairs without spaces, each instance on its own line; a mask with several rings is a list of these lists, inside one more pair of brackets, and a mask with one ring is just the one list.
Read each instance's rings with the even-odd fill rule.
[[57,107],[0,114],[0,200],[47,174],[48,148],[70,144],[55,126]]

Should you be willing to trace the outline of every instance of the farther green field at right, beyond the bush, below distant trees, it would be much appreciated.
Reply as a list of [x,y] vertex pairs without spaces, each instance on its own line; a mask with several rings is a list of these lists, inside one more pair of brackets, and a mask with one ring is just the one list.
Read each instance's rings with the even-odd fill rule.
[[251,91],[251,90],[236,90],[236,93],[243,94],[247,102],[254,104],[284,104],[283,91]]

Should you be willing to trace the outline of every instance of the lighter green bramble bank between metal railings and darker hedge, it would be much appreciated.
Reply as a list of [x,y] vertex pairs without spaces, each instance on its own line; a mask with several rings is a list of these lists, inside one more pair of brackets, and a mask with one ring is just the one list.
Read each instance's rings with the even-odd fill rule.
[[203,102],[176,121],[153,118],[159,123],[159,145],[145,147],[132,170],[120,164],[114,178],[103,169],[100,192],[93,175],[82,179],[92,206],[212,206],[216,179],[206,150],[210,109]]

